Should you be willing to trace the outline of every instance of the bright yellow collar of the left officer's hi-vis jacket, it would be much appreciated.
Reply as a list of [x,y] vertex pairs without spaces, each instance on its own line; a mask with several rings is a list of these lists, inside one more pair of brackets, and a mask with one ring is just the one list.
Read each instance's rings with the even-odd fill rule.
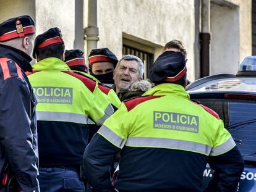
[[56,57],[48,57],[37,62],[35,65],[32,66],[33,70],[58,70],[58,71],[68,71],[69,66],[61,59]]

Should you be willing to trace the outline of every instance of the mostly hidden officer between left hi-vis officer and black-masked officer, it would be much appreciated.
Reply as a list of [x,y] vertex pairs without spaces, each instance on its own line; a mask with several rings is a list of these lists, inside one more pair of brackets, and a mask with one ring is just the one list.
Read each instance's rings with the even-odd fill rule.
[[70,49],[65,52],[65,62],[69,65],[69,68],[75,73],[79,73],[80,75],[86,76],[88,78],[92,78],[93,80],[98,82],[98,88],[106,94],[108,101],[113,104],[116,109],[121,104],[121,101],[117,97],[116,93],[113,89],[101,83],[98,79],[93,77],[88,73],[87,64],[85,63],[85,59],[83,57],[83,51],[80,49]]

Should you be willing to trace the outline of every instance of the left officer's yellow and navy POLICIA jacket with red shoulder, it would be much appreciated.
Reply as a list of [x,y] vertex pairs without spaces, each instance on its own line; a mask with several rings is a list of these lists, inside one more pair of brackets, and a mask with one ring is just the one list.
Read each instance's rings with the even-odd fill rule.
[[79,167],[88,143],[88,124],[113,114],[96,81],[70,71],[56,57],[33,65],[28,76],[35,92],[40,167]]

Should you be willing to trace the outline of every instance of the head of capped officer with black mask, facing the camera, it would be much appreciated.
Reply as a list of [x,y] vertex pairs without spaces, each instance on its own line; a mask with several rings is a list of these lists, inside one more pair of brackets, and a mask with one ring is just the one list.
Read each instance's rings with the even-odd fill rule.
[[112,85],[113,71],[118,62],[117,57],[108,48],[92,49],[88,56],[89,70],[93,77],[106,85]]

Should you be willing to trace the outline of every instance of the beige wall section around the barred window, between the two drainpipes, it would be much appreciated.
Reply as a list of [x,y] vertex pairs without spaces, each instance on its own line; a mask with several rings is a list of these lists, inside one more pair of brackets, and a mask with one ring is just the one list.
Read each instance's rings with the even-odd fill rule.
[[181,40],[189,51],[188,77],[194,80],[194,20],[190,0],[98,0],[98,47],[108,47],[120,59],[123,32],[158,47]]

